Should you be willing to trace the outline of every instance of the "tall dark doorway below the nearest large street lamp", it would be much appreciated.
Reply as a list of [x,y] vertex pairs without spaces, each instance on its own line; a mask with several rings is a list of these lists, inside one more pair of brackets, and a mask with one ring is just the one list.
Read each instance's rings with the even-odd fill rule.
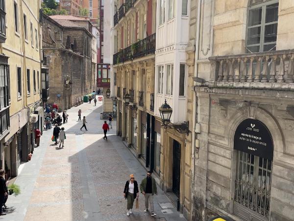
[[181,177],[181,144],[173,140],[172,158],[172,192],[180,197],[180,177]]

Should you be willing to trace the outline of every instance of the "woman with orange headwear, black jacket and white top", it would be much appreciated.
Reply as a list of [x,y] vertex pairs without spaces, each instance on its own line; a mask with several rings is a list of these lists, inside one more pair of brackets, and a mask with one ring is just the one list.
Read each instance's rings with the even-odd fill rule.
[[132,209],[134,205],[134,201],[139,197],[139,188],[138,188],[138,183],[135,180],[135,177],[133,174],[130,175],[130,179],[126,181],[124,190],[123,190],[123,196],[127,199],[127,204],[126,204],[126,215],[129,216],[132,214]]

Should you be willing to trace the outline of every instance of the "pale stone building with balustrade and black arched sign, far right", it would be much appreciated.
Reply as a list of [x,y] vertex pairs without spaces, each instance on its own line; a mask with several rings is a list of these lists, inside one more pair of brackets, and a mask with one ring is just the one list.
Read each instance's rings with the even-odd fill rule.
[[293,221],[294,2],[194,5],[190,219]]

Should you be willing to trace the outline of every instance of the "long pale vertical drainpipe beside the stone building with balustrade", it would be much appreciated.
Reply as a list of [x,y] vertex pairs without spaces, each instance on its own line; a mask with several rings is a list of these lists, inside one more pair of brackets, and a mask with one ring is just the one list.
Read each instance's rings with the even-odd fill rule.
[[[194,65],[194,77],[198,76],[198,58],[199,58],[199,39],[200,39],[200,13],[201,13],[201,0],[198,0],[198,5],[197,5],[197,27],[196,27],[196,42],[195,42],[195,65]],[[196,85],[196,83],[194,82],[194,85]],[[191,148],[191,155],[192,155],[192,196],[191,196],[191,200],[192,200],[192,207],[191,207],[191,220],[193,218],[193,195],[194,195],[194,189],[195,189],[195,153],[196,152],[196,133],[195,133],[195,129],[196,129],[196,114],[197,114],[197,97],[196,97],[196,93],[193,93],[193,121],[192,121],[192,148]]]

